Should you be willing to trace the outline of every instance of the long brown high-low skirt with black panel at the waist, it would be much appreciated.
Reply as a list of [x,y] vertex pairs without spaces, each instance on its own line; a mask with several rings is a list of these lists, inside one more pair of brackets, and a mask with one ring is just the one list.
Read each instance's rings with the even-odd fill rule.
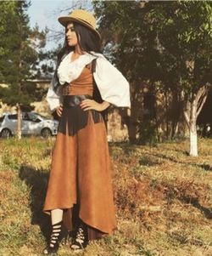
[[64,209],[64,225],[80,218],[89,240],[116,229],[109,145],[100,112],[64,106],[53,148],[44,213]]

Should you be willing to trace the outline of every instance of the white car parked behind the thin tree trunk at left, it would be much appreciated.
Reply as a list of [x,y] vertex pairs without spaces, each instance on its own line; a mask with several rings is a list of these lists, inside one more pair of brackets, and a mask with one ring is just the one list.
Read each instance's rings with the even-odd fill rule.
[[[59,122],[43,117],[36,112],[22,112],[21,133],[48,137],[58,133]],[[17,114],[4,114],[0,117],[0,136],[8,138],[16,134]]]

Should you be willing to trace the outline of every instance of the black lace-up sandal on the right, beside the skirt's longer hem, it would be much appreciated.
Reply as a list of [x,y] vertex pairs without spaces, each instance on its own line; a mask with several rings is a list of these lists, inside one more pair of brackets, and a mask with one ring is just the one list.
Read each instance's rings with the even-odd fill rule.
[[84,223],[81,223],[75,233],[74,241],[72,242],[70,248],[73,250],[84,249],[88,245],[88,234],[87,228]]

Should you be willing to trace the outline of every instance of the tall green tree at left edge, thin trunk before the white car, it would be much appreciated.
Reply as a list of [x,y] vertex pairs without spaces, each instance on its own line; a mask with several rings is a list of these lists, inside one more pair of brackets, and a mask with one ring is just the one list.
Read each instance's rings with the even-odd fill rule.
[[8,105],[16,105],[17,136],[21,137],[21,109],[41,99],[36,83],[31,82],[40,71],[41,48],[45,46],[47,31],[31,30],[25,10],[26,1],[1,2],[0,20],[0,81],[8,87],[0,88],[0,96]]

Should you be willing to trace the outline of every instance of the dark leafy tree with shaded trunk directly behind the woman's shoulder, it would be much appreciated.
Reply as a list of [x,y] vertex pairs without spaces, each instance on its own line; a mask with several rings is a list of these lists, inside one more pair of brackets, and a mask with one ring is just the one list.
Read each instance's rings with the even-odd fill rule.
[[114,64],[131,83],[131,118],[128,118],[127,126],[129,138],[134,142],[138,121],[142,120],[138,109],[142,105],[144,84],[154,80],[149,65],[153,70],[152,59],[157,58],[152,31],[148,31],[148,20],[145,19],[148,9],[139,1],[93,1],[93,4],[103,46],[110,51]]

